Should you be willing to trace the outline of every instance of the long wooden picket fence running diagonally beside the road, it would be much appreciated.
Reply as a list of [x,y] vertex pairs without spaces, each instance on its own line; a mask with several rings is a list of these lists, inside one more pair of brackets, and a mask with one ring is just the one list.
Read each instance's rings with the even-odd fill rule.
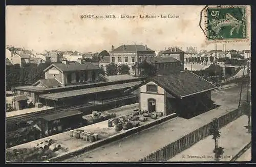
[[[238,117],[243,115],[243,109],[245,106],[241,106],[239,109],[230,111],[229,113],[217,118],[219,128],[224,127],[228,123],[236,120]],[[196,129],[195,131],[181,137],[180,139],[168,144],[167,146],[155,151],[154,153],[140,159],[140,162],[161,162],[167,161],[168,159],[174,157],[180,152],[188,149],[189,147],[196,144],[198,141],[204,139],[210,135],[210,123]]]

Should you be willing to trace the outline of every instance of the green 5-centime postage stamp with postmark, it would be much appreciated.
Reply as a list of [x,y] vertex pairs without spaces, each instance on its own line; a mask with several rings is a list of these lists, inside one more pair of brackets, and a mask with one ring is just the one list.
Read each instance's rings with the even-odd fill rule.
[[205,35],[208,41],[247,40],[248,20],[245,6],[205,8]]

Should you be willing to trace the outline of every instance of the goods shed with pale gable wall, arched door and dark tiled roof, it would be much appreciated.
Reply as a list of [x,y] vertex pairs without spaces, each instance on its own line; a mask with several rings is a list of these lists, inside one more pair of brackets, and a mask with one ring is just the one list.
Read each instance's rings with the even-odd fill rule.
[[139,109],[189,117],[212,108],[217,87],[190,72],[151,77],[139,88]]

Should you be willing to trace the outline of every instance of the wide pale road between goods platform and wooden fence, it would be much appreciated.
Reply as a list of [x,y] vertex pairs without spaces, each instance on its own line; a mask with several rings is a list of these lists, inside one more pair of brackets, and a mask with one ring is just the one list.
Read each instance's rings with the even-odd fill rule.
[[[238,106],[240,86],[225,89],[223,93],[216,91],[212,93],[212,99],[218,103],[227,103],[224,109],[215,109],[209,113],[202,114],[202,117],[197,117],[195,120],[191,118],[186,120],[177,117],[172,121],[166,121],[162,124],[148,128],[144,131],[132,134],[120,140],[111,142],[88,153],[83,153],[79,156],[66,159],[66,162],[86,162],[86,161],[138,161],[140,158],[153,153],[177,138],[196,129],[197,126],[211,121],[212,117],[219,115],[221,112],[226,112],[226,108],[236,109]],[[221,90],[220,90],[221,91]],[[246,92],[243,91],[243,100]],[[210,115],[210,116],[209,116]],[[196,121],[196,125],[195,125]]]

